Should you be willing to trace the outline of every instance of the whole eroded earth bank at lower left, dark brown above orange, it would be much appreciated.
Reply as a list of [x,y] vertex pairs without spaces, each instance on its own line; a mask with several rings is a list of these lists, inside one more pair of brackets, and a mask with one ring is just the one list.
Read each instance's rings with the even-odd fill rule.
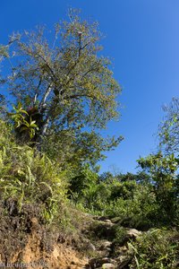
[[34,212],[30,207],[18,215],[0,206],[0,268],[85,268],[88,258],[65,236],[59,239],[59,232],[39,224]]

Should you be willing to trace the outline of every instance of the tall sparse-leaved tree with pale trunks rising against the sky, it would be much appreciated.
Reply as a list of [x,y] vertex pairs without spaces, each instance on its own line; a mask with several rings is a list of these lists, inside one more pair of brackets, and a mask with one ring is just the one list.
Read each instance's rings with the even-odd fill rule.
[[25,31],[13,43],[16,57],[6,82],[13,99],[21,102],[19,130],[23,134],[27,122],[30,127],[35,123],[38,144],[54,134],[55,139],[66,141],[65,136],[68,143],[84,145],[83,154],[91,152],[93,143],[100,155],[121,140],[103,139],[97,131],[118,117],[116,96],[121,89],[109,59],[100,53],[98,23],[81,21],[71,11],[69,22],[57,23],[54,32],[51,39],[45,28]]

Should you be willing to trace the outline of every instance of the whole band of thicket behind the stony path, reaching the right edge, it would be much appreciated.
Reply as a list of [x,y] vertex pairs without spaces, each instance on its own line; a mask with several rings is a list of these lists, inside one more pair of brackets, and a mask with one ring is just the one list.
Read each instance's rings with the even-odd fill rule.
[[[166,158],[157,154],[139,162],[143,165],[151,159],[154,163],[148,165],[153,168],[159,161],[158,169],[148,173],[141,171],[137,175],[106,173],[98,176],[89,167],[84,167],[78,177],[71,179],[73,202],[87,211],[117,218],[127,227],[146,230],[178,225],[179,187],[175,174],[178,160],[173,155]],[[164,162],[166,170],[162,173]],[[173,173],[169,166],[175,167]]]

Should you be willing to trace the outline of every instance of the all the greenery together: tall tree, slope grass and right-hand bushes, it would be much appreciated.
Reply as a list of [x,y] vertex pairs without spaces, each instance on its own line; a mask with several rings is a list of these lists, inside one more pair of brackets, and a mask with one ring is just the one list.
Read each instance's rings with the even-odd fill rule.
[[120,92],[108,59],[98,54],[99,36],[96,23],[71,13],[70,22],[56,24],[52,44],[39,29],[1,47],[1,60],[11,61],[1,82],[13,94],[13,110],[1,95],[0,199],[10,214],[31,204],[43,223],[63,229],[67,218],[72,225],[73,207],[149,230],[128,245],[130,268],[177,268],[179,100],[165,109],[158,152],[138,160],[137,174],[100,175],[103,152],[122,137],[99,132],[117,116]]

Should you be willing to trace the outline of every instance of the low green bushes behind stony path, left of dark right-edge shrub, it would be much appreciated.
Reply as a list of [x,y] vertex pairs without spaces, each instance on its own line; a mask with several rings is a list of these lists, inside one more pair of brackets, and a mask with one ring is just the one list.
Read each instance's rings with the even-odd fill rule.
[[114,177],[106,173],[98,176],[86,167],[78,177],[72,178],[73,201],[87,211],[115,218],[126,227],[146,230],[159,225],[162,219],[157,196],[153,186],[142,181],[148,176],[139,173],[130,174],[131,180],[124,178],[129,178],[129,175]]

